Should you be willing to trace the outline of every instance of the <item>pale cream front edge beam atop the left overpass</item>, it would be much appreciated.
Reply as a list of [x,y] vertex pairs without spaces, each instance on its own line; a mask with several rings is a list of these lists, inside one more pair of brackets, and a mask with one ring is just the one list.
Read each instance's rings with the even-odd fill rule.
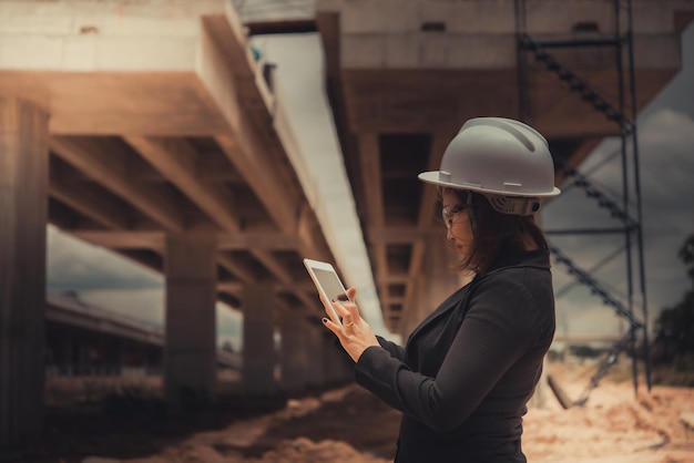
[[224,0],[181,8],[157,2],[3,1],[0,34],[8,69],[62,72],[190,70],[201,16],[222,13]]

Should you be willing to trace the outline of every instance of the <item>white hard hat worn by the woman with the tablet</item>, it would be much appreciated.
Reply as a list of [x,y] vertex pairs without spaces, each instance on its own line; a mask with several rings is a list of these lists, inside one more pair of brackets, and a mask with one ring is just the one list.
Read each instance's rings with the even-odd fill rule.
[[[504,214],[527,215],[539,208],[507,207],[503,199],[557,196],[554,163],[547,140],[522,122],[504,117],[467,121],[443,153],[440,171],[423,172],[419,179],[490,198]],[[508,203],[508,202],[507,202]],[[512,202],[511,202],[512,203]],[[510,206],[510,203],[509,203]]]

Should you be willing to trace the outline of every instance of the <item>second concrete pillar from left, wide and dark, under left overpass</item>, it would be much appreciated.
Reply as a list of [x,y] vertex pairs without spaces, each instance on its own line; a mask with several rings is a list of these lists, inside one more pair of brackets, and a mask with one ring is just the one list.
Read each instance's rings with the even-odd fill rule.
[[216,399],[216,236],[166,236],[164,390],[173,411]]

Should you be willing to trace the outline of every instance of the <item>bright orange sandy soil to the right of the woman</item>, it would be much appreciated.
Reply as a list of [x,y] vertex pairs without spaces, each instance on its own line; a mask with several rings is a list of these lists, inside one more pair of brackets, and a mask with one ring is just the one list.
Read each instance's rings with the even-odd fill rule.
[[[588,385],[568,382],[575,399]],[[603,380],[583,407],[568,410],[549,400],[530,409],[523,449],[532,463],[685,463],[694,462],[694,389],[654,387],[641,381]],[[550,399],[554,399],[553,395]]]

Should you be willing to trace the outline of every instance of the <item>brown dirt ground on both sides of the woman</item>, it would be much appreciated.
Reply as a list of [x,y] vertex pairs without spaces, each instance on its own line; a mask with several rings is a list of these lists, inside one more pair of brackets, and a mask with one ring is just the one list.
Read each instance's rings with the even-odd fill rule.
[[[585,371],[550,370],[571,398],[580,398],[589,383]],[[584,405],[568,410],[549,388],[545,394],[544,405],[532,407],[523,422],[531,463],[694,463],[694,429],[685,424],[694,421],[692,388],[654,387],[649,393],[641,381],[636,394],[630,380],[608,377]],[[156,413],[140,410],[135,420],[125,413],[53,414],[45,440],[21,461],[388,463],[399,423],[398,412],[353,384],[264,412],[226,404],[173,421]]]

